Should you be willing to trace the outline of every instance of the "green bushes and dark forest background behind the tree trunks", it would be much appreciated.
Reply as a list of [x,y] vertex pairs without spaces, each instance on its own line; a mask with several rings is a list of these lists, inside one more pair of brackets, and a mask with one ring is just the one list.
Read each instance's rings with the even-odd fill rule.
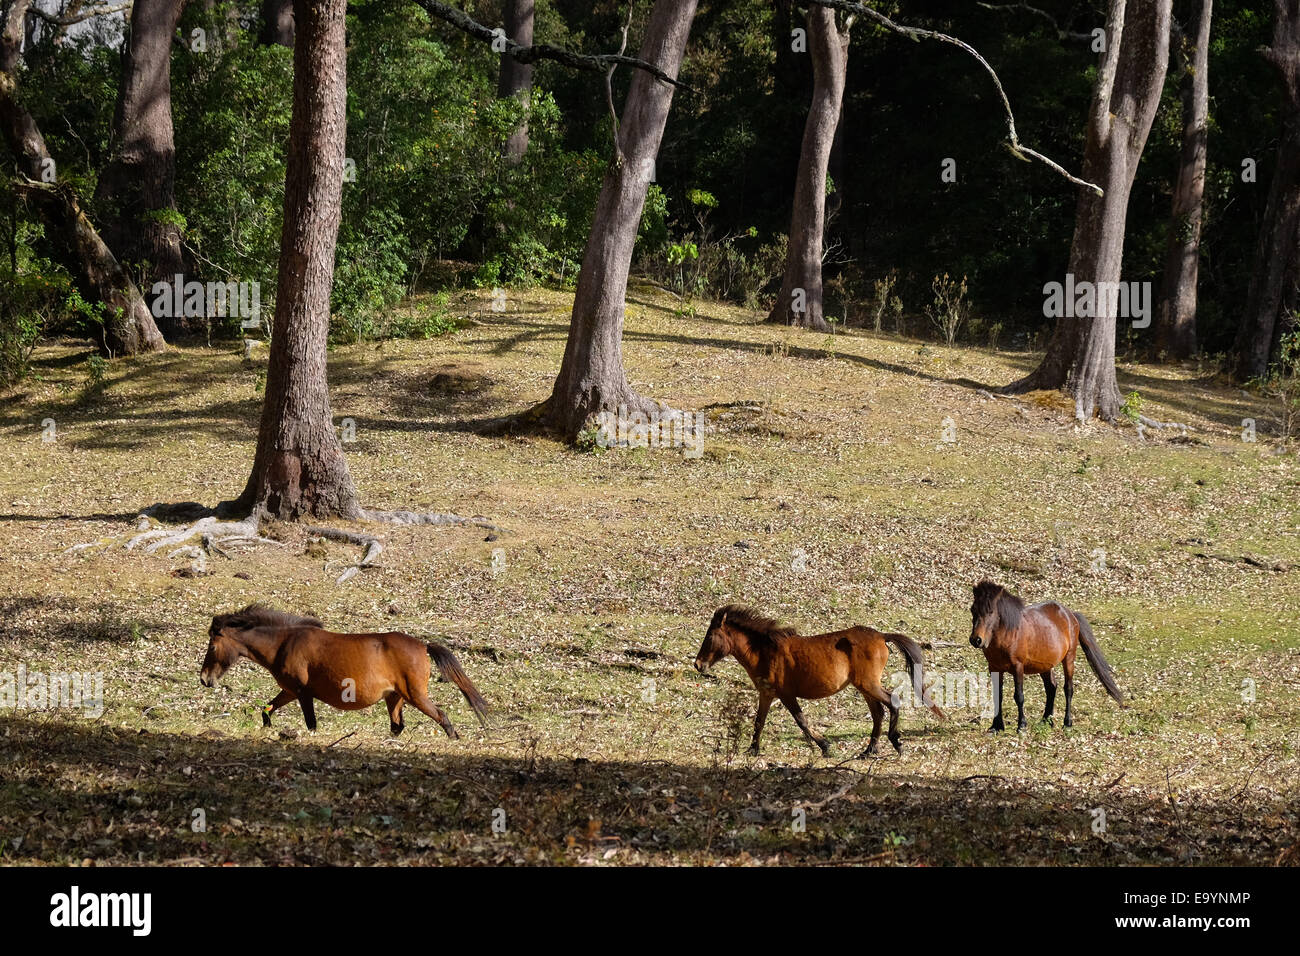
[[[1022,138],[1078,168],[1097,65],[1087,31],[1104,22],[1104,10],[1044,0],[1053,23],[1014,5],[911,0],[888,7],[909,23],[941,29],[984,53],[1002,78]],[[498,22],[494,3],[465,9],[484,23]],[[649,9],[633,5],[633,36]],[[268,39],[261,16],[250,4],[185,5],[172,51],[177,172],[176,208],[168,215],[179,230],[187,277],[260,281],[269,313],[292,52],[259,42],[259,35]],[[540,0],[536,35],[614,51],[624,16],[625,5],[616,3]],[[812,83],[810,57],[790,49],[790,30],[802,17],[784,1],[699,5],[681,73],[690,91],[676,98],[668,118],[636,272],[680,294],[771,306]],[[44,133],[58,177],[77,190],[91,221],[100,221],[108,211],[95,196],[112,156],[124,21],[96,17],[68,27],[29,17],[29,25],[22,103]],[[209,38],[202,53],[185,39],[198,29]],[[347,151],[355,179],[344,187],[332,337],[428,336],[448,328],[437,311],[394,317],[391,307],[417,289],[571,286],[611,152],[599,74],[545,61],[537,66],[528,148],[510,165],[500,161],[500,144],[523,108],[498,98],[502,57],[488,44],[416,4],[351,3],[347,30]],[[1206,355],[1232,347],[1282,131],[1277,79],[1257,52],[1270,30],[1264,4],[1216,4],[1196,311]],[[630,73],[615,73],[616,101]],[[1171,65],[1128,207],[1126,281],[1160,287],[1180,137],[1179,70]],[[956,160],[956,182],[941,178],[945,159]],[[1254,160],[1253,182],[1243,182],[1244,160]],[[1063,273],[1075,190],[1045,166],[1011,155],[993,87],[966,53],[857,25],[828,176],[828,319],[937,334],[924,312],[933,278],[948,273],[968,281],[971,320],[962,338],[1041,345],[1050,330],[1041,286]],[[57,264],[30,203],[12,190],[0,202],[6,246],[0,316],[4,373],[12,381],[36,336],[94,336],[96,311]],[[153,278],[151,263],[120,258],[143,286]],[[164,332],[220,338],[239,329],[238,320],[226,319]],[[1119,346],[1154,352],[1149,336],[1124,330]]]

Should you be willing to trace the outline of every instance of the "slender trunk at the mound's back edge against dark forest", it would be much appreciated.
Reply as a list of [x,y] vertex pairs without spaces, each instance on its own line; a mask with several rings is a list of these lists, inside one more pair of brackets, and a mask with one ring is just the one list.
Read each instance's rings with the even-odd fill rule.
[[844,101],[849,29],[840,27],[835,10],[814,7],[807,13],[807,30],[809,53],[812,56],[812,105],[803,126],[803,150],[794,179],[785,274],[767,321],[824,330],[829,328],[822,315],[826,170]]

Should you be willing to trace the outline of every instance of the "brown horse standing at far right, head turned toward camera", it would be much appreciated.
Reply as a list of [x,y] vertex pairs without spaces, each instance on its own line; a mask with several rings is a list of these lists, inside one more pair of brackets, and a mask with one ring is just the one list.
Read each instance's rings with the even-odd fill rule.
[[971,645],[982,648],[988,661],[988,671],[993,675],[997,710],[989,732],[1004,728],[1002,723],[1002,674],[1010,674],[1015,682],[1015,708],[1019,711],[1017,732],[1027,726],[1024,721],[1024,675],[1041,674],[1043,688],[1046,691],[1048,705],[1043,721],[1052,723],[1052,708],[1056,704],[1056,682],[1052,669],[1058,663],[1065,670],[1065,726],[1074,726],[1074,657],[1083,645],[1092,672],[1106,688],[1106,693],[1124,705],[1124,698],[1115,685],[1114,671],[1101,656],[1097,639],[1088,620],[1078,611],[1071,611],[1062,604],[1048,601],[1026,606],[1020,598],[993,581],[980,581],[975,585],[975,601],[971,604]]

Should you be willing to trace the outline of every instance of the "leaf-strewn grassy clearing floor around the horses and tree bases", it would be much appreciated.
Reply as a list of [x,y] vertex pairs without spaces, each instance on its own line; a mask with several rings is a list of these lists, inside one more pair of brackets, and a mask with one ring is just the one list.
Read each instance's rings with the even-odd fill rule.
[[[629,377],[707,414],[701,457],[482,433],[549,393],[569,300],[462,297],[455,333],[333,350],[363,503],[504,529],[378,527],[380,561],[342,584],[358,549],[294,525],[203,568],[124,546],[155,502],[243,488],[264,350],[95,380],[83,343],[39,349],[0,405],[0,682],[101,674],[103,713],[0,710],[0,861],[1296,861],[1300,458],[1262,399],[1122,363],[1143,412],[1187,434],[1080,427],[1056,394],[980,392],[1028,354],[774,328],[634,284]],[[1087,614],[1130,706],[1080,654],[1072,728],[1032,723],[1032,682],[1031,730],[985,734],[987,695],[959,696],[983,672],[983,576]],[[382,705],[320,706],[315,734],[291,705],[263,730],[269,674],[198,682],[209,619],[251,601],[445,641],[491,728],[437,683],[459,741],[412,711],[391,739]],[[871,724],[850,691],[805,706],[829,760],[779,708],[746,757],[744,671],[690,666],[733,601],[806,633],[911,635],[948,719],[906,708],[901,756],[853,760]]]

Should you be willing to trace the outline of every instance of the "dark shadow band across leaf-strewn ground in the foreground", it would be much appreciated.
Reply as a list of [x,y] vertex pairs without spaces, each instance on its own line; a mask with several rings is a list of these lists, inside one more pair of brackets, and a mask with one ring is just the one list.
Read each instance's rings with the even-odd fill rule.
[[[432,732],[408,722],[416,743]],[[764,767],[744,758],[710,767],[538,758],[526,743],[519,756],[485,756],[474,740],[436,737],[433,750],[408,740],[130,732],[0,715],[5,858],[1268,864],[1296,842],[1294,813],[1247,808],[1228,795],[1173,806],[1101,783],[897,774],[888,757],[853,767]],[[796,805],[803,805],[802,831]],[[1102,834],[1091,829],[1098,806]],[[195,831],[200,818],[205,830]]]

